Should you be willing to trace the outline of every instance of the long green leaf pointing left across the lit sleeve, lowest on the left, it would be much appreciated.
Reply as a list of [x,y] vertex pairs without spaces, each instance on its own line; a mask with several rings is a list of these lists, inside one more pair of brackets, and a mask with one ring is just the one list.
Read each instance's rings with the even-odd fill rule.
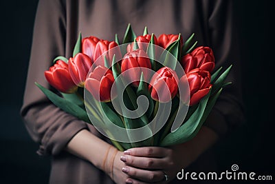
[[37,87],[47,96],[54,105],[56,105],[58,108],[61,108],[61,110],[64,110],[65,112],[72,114],[73,116],[76,116],[76,118],[83,120],[87,123],[91,123],[89,120],[89,117],[87,115],[87,112],[83,110],[83,108],[80,108],[75,103],[72,103],[72,101],[69,101],[67,99],[63,99],[61,96],[58,96],[54,92],[48,90],[47,88],[44,88],[39,83],[35,83]]

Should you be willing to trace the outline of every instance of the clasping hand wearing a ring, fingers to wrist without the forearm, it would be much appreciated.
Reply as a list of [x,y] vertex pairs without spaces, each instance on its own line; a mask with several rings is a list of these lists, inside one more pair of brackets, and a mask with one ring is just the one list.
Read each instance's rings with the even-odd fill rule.
[[122,171],[129,176],[126,183],[168,183],[182,167],[192,162],[191,155],[181,150],[178,146],[135,147],[127,150],[120,158],[126,164]]

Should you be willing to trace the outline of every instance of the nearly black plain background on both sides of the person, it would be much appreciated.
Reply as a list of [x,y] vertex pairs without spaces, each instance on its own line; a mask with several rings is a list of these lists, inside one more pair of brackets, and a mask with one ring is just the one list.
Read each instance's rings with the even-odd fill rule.
[[[37,0],[0,1],[0,183],[47,183],[50,158],[36,154],[19,110]],[[234,1],[239,23],[245,125],[215,145],[219,168],[274,175],[274,10],[270,1]],[[15,6],[16,5],[16,6]],[[265,182],[261,182],[265,183]]]

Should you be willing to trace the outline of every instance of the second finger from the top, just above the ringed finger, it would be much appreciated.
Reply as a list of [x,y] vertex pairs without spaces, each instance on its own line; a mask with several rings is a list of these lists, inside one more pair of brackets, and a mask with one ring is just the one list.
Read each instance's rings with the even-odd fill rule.
[[120,157],[120,160],[126,165],[139,167],[142,169],[163,170],[168,167],[168,162],[166,159],[124,155]]

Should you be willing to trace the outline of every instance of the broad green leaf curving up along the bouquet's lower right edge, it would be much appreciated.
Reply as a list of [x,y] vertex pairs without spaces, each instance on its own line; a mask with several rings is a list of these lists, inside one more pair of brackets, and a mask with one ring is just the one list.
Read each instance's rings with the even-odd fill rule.
[[185,143],[186,141],[189,141],[194,136],[197,135],[197,132],[199,132],[201,125],[203,125],[204,121],[206,121],[206,118],[210,114],[214,103],[216,103],[219,94],[221,93],[221,90],[214,94],[214,96],[211,96],[210,98],[210,92],[201,99],[197,110],[190,116],[190,118],[181,125],[175,132],[170,132],[161,142],[161,146],[168,146],[168,145],[176,145]]

